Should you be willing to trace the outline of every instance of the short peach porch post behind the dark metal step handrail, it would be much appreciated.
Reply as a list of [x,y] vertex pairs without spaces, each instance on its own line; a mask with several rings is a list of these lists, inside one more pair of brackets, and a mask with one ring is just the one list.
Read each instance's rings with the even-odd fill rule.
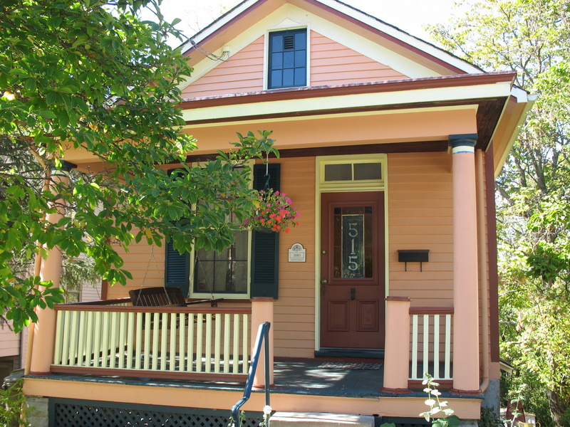
[[[271,323],[269,328],[269,385],[274,385],[273,379],[273,331],[275,328],[273,322],[273,305],[274,298],[271,297],[253,297],[252,298],[252,356],[257,338],[257,330],[259,325],[264,322]],[[254,388],[262,389],[265,386],[265,354],[264,348],[261,347],[259,354],[259,362],[257,364],[257,371],[254,376]]]

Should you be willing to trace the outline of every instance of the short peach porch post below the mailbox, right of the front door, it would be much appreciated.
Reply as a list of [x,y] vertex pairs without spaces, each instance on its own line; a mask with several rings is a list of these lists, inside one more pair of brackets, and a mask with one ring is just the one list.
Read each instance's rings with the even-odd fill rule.
[[382,393],[407,394],[410,378],[410,298],[386,298]]

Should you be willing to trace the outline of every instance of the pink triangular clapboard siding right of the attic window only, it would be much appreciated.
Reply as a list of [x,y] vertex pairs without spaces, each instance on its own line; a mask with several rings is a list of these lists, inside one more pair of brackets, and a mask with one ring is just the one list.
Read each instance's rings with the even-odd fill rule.
[[407,78],[392,68],[311,31],[311,86]]

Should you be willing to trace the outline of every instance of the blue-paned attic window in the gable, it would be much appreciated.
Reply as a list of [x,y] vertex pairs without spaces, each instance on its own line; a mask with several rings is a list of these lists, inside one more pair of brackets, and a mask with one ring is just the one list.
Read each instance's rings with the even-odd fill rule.
[[269,33],[267,88],[298,88],[306,84],[306,28]]

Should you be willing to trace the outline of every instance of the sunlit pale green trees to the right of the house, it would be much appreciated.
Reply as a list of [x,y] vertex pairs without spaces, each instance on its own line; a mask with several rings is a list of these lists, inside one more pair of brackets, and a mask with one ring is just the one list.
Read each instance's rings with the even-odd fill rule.
[[502,355],[528,390],[539,384],[554,424],[567,425],[570,5],[487,0],[464,7],[451,26],[432,28],[437,41],[486,70],[517,71],[517,85],[539,94],[496,186]]

